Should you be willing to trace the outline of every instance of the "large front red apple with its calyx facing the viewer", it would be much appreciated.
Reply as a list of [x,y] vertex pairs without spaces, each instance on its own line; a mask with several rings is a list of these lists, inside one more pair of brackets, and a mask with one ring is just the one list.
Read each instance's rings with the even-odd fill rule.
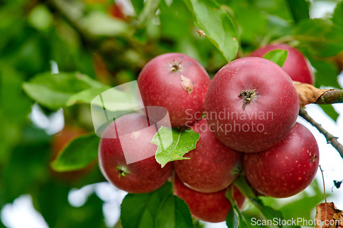
[[[244,107],[239,94],[255,90]],[[296,88],[283,69],[263,58],[240,58],[217,72],[206,95],[207,122],[215,137],[241,152],[259,152],[283,140],[296,123]]]

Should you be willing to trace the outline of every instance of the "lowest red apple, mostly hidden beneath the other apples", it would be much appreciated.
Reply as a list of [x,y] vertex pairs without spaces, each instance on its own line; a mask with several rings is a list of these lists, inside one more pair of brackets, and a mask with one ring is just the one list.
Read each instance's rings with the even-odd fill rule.
[[[197,192],[185,186],[177,175],[174,178],[174,194],[187,203],[194,217],[205,222],[220,223],[226,219],[231,203],[226,199],[225,192],[226,189],[212,193]],[[241,209],[246,197],[237,188],[233,190],[233,197]]]

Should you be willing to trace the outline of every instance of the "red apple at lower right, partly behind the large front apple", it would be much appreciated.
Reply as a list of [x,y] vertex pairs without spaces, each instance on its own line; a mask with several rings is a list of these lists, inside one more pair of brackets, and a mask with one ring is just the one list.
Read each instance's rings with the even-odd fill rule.
[[307,188],[318,165],[316,139],[300,123],[275,147],[244,155],[244,173],[249,183],[265,196],[275,198],[292,197]]

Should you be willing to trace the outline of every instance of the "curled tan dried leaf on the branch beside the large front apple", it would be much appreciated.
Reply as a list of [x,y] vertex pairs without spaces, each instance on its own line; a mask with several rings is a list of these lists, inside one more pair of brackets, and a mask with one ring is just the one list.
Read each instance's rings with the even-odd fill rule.
[[293,81],[293,84],[296,87],[296,92],[298,92],[300,106],[305,106],[309,103],[316,103],[322,94],[329,91],[318,89],[310,84],[301,83],[299,81]]

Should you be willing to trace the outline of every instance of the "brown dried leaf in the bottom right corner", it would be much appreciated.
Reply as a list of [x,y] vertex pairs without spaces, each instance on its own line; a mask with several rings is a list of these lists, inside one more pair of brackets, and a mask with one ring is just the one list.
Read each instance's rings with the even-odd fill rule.
[[315,220],[315,228],[320,228],[320,222],[323,222],[322,228],[342,228],[343,212],[338,210],[333,202],[320,203],[316,206]]

